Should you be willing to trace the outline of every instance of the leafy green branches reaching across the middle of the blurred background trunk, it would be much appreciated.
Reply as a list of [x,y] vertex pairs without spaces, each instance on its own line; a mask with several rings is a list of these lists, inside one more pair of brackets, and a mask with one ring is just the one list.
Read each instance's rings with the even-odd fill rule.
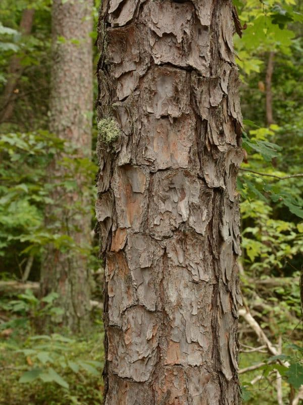
[[[71,157],[62,154],[63,151],[68,151]],[[45,226],[43,217],[45,206],[55,205],[50,197],[53,187],[60,184],[66,191],[76,189],[77,175],[84,176],[90,185],[96,166],[88,158],[78,157],[72,146],[41,130],[5,134],[0,140],[0,155],[4,162],[0,168],[0,256],[6,258],[4,265],[12,260],[13,247],[17,246],[21,262],[28,255],[33,255],[39,262],[43,246],[49,242],[60,250],[80,250],[82,254],[91,255],[89,247],[76,246],[68,234],[55,233],[56,223]],[[55,157],[57,165],[71,169],[56,183],[54,179],[51,182],[47,175],[48,165]],[[89,193],[93,198],[92,185],[81,192]],[[75,215],[81,215],[84,209],[77,202],[74,207],[69,207]]]

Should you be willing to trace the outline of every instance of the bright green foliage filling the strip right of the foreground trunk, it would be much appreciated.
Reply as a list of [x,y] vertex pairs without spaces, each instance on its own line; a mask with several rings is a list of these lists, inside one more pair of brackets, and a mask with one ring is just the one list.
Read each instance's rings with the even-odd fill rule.
[[[299,277],[302,238],[301,37],[302,15],[293,0],[235,2],[243,37],[236,38],[237,63],[245,117],[246,151],[238,177],[242,197],[242,293],[252,316],[272,343],[284,342],[279,356],[269,356],[254,335],[241,334],[242,399],[247,403],[277,403],[276,379],[282,378],[284,403],[302,384]],[[275,125],[266,127],[265,76],[269,52],[274,52],[272,106]],[[286,55],[286,56],[285,56]],[[241,333],[241,332],[240,332]],[[249,343],[250,342],[250,343]],[[291,344],[289,344],[292,342]],[[297,343],[297,345],[296,345]],[[245,345],[245,347],[247,347]],[[261,366],[260,366],[261,364]],[[259,366],[258,366],[259,365]]]

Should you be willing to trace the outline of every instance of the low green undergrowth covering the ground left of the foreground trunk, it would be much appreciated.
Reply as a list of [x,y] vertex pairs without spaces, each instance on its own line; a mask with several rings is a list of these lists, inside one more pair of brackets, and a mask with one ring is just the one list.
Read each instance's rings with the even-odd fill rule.
[[[52,333],[39,334],[41,314],[25,307],[28,300],[23,295],[0,300],[0,404],[102,403],[102,314],[95,314],[93,325],[82,334],[75,335],[60,326]],[[50,306],[48,312],[51,314],[54,308]],[[10,319],[3,322],[8,314]]]

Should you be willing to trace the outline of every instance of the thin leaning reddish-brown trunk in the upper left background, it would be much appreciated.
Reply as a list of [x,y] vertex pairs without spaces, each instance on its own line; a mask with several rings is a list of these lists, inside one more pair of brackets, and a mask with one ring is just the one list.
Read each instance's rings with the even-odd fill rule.
[[[31,33],[34,13],[35,10],[33,9],[23,10],[20,21],[20,32],[23,35],[29,35]],[[8,81],[4,90],[2,108],[0,111],[0,123],[9,121],[13,115],[18,94],[15,91],[23,70],[20,58],[13,56],[8,69]]]

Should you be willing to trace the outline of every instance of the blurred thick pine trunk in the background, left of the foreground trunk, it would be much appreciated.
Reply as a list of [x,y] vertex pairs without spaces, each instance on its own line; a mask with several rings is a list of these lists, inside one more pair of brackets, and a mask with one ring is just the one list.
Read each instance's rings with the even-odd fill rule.
[[[49,104],[49,129],[74,145],[73,156],[91,154],[92,111],[92,2],[54,0],[52,12],[53,66]],[[63,156],[57,156],[62,159]],[[66,155],[65,157],[70,157]],[[80,330],[89,319],[89,272],[87,256],[79,248],[90,244],[90,200],[81,173],[73,166],[54,161],[49,179],[54,182],[53,205],[46,210],[46,224],[54,234],[70,236],[78,250],[63,251],[54,245],[46,247],[42,265],[41,291],[59,293],[57,302],[64,310],[62,323]],[[77,187],[69,191],[60,181],[74,180]]]

